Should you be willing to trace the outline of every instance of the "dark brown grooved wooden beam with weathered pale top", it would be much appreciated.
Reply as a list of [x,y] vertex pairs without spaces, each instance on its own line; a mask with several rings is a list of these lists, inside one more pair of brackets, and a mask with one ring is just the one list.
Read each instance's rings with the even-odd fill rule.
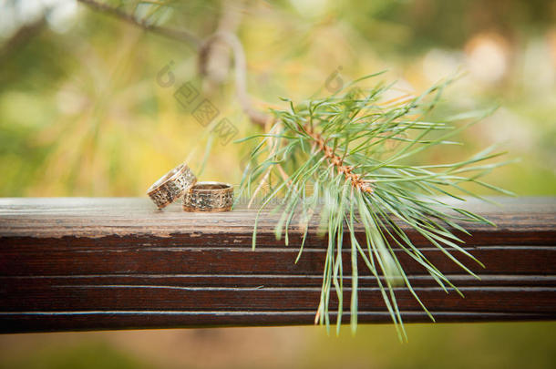
[[[465,224],[472,237],[461,235],[486,268],[455,253],[480,281],[407,230],[465,298],[396,249],[438,322],[556,318],[556,199],[497,200],[466,204],[497,224]],[[313,323],[326,241],[312,225],[294,263],[300,230],[284,246],[278,216],[263,212],[252,251],[255,216],[159,211],[147,199],[0,199],[0,332]],[[359,273],[359,321],[389,322],[362,261]],[[345,310],[349,286],[346,277]],[[406,322],[429,322],[405,289],[396,300]]]

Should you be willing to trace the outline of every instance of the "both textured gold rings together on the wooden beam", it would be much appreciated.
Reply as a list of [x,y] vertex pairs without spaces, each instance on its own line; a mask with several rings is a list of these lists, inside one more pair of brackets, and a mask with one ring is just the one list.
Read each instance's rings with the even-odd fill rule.
[[186,211],[229,211],[233,204],[233,187],[221,182],[197,182],[186,164],[170,170],[147,190],[150,200],[165,208],[178,199]]

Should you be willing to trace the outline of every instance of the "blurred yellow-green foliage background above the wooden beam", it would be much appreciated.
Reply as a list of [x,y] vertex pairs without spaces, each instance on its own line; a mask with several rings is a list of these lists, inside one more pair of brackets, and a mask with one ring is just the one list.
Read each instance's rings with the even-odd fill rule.
[[[214,32],[225,10],[217,1],[105,4],[200,39]],[[280,106],[279,97],[309,97],[335,71],[347,82],[388,68],[384,80],[398,80],[401,90],[415,93],[468,71],[448,90],[447,108],[500,109],[461,138],[466,149],[441,157],[461,159],[499,142],[521,161],[492,176],[494,184],[522,195],[555,193],[552,2],[229,4],[240,17],[237,33],[257,107]],[[66,20],[64,32],[45,17],[32,30],[29,24],[37,21],[22,19],[0,45],[0,195],[137,196],[182,159],[199,169],[213,126],[202,127],[173,97],[187,81],[218,107],[218,119],[233,122],[240,131],[236,138],[257,129],[242,114],[232,73],[216,89],[201,88],[189,44],[83,5]],[[157,76],[170,63],[175,83],[161,87]],[[203,178],[237,182],[245,151],[215,141]]]

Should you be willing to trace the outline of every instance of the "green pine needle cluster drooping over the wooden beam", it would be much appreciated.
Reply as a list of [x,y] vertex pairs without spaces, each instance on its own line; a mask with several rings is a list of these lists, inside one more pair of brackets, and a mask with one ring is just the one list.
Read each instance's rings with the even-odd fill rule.
[[[458,224],[462,220],[492,223],[439,196],[455,200],[464,200],[460,194],[479,198],[468,190],[466,183],[502,193],[508,191],[480,180],[504,164],[485,163],[501,155],[492,148],[449,164],[415,165],[411,161],[426,149],[458,144],[451,139],[492,110],[431,121],[427,114],[435,108],[442,90],[451,81],[430,87],[419,97],[392,104],[385,103],[383,98],[390,86],[378,84],[368,90],[355,87],[376,75],[359,78],[331,97],[314,98],[301,104],[283,99],[289,108],[272,110],[275,123],[268,133],[241,140],[260,139],[260,142],[252,150],[240,191],[262,196],[260,210],[278,202],[274,210],[282,211],[282,216],[275,234],[277,239],[283,237],[285,244],[297,217],[304,236],[295,262],[302,256],[310,220],[319,220],[318,232],[328,236],[328,247],[315,322],[325,324],[328,329],[328,308],[334,290],[339,302],[336,320],[339,332],[345,281],[342,251],[349,244],[352,331],[355,332],[357,325],[357,260],[361,258],[376,279],[400,340],[407,340],[402,313],[396,303],[397,288],[405,286],[430,319],[434,321],[434,318],[411,286],[394,246],[423,266],[446,292],[448,288],[461,292],[427,260],[395,220],[406,223],[462,270],[478,277],[448,252],[459,251],[477,261],[460,246],[461,241],[453,231],[468,233]],[[470,122],[460,126],[452,124],[463,119]],[[270,190],[262,191],[262,184]],[[355,224],[365,229],[363,244],[355,237]],[[253,248],[256,231],[255,223]]]

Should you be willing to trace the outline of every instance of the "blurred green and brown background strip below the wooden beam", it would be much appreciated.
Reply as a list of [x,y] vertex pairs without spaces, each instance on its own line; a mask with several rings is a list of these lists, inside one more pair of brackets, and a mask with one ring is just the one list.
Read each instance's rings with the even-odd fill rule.
[[[208,328],[0,337],[0,368],[553,368],[556,323]],[[10,344],[6,344],[10,341]]]

